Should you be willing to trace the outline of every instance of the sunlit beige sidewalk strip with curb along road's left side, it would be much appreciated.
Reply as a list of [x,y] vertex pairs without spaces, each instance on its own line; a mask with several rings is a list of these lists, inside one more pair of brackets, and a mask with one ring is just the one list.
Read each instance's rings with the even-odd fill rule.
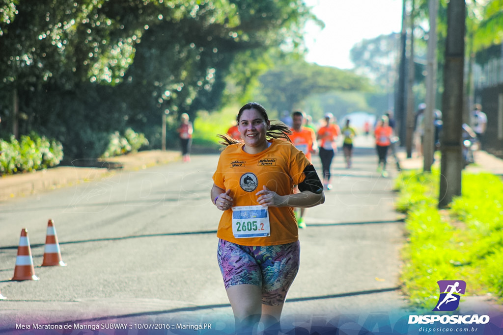
[[139,171],[168,164],[179,160],[180,157],[178,151],[141,151],[107,160],[96,159],[96,164],[93,164],[95,167],[58,166],[3,176],[0,177],[0,201],[97,180],[117,171]]

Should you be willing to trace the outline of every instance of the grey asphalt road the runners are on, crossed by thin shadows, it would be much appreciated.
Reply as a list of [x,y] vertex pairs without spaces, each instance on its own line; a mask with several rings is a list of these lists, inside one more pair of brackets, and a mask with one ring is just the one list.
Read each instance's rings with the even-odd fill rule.
[[[209,199],[217,160],[196,155],[190,163],[0,203],[0,291],[8,298],[0,301],[0,331],[19,322],[178,319],[228,329],[232,311],[216,262],[221,212]],[[313,163],[319,171],[317,157]],[[301,267],[285,320],[405,305],[398,288],[403,222],[393,210],[393,173],[383,178],[375,171],[371,148],[355,149],[353,166],[344,168],[340,152],[325,204],[306,212]],[[49,218],[66,267],[38,267]],[[28,229],[39,281],[9,280],[22,228]]]

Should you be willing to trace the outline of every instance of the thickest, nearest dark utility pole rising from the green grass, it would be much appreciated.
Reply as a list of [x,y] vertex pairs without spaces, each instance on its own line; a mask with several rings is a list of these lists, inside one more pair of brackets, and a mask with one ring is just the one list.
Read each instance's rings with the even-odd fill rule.
[[465,17],[465,1],[451,0],[447,5],[444,94],[442,96],[444,134],[439,195],[440,208],[446,207],[454,196],[461,195]]

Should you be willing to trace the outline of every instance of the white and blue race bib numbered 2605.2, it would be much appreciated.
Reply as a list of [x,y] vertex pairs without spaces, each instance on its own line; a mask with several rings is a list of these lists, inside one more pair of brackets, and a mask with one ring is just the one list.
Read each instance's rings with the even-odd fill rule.
[[269,208],[263,206],[232,207],[232,233],[236,239],[270,236]]

